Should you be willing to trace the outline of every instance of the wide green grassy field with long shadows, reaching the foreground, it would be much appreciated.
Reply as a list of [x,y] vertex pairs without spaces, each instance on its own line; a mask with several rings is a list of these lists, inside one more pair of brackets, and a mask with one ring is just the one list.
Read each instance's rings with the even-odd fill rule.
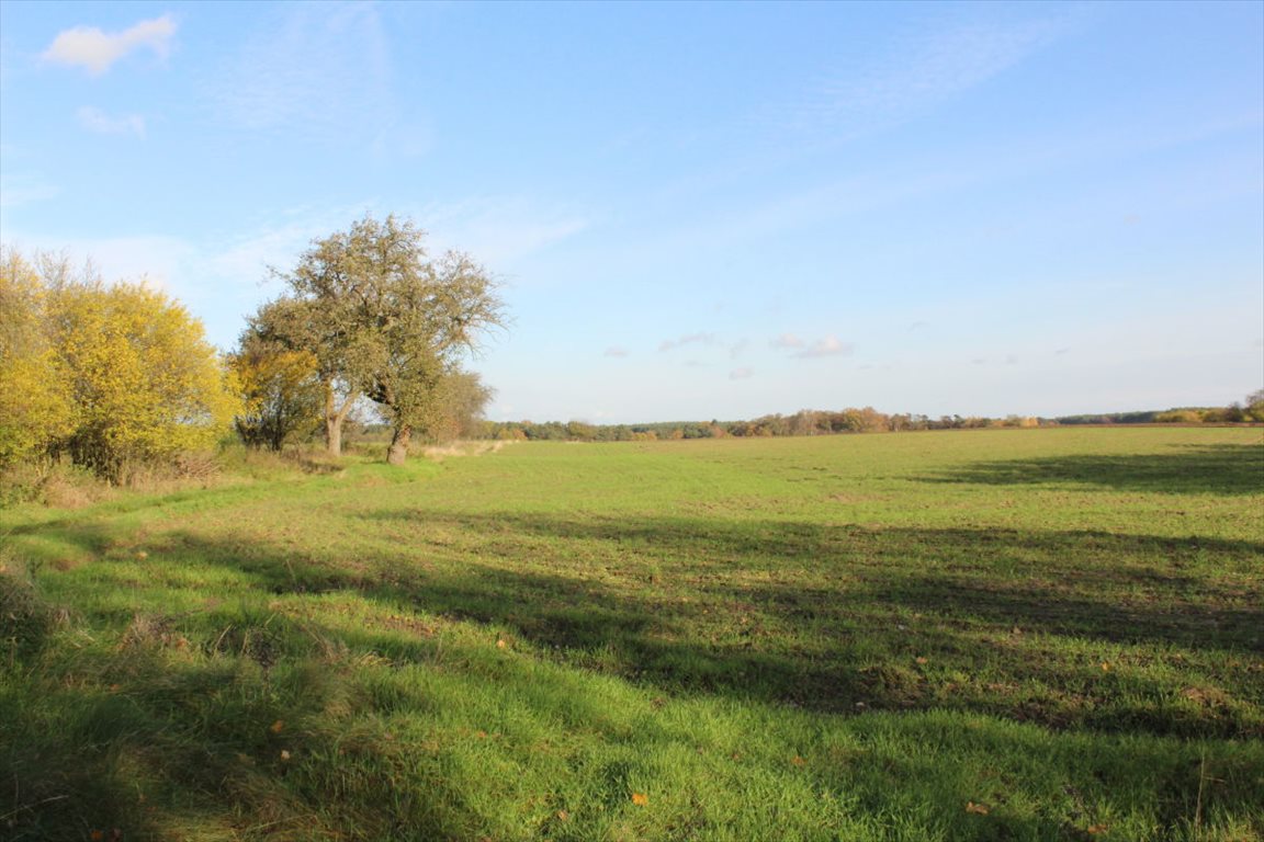
[[0,513],[0,837],[1261,839],[1259,429],[517,444]]

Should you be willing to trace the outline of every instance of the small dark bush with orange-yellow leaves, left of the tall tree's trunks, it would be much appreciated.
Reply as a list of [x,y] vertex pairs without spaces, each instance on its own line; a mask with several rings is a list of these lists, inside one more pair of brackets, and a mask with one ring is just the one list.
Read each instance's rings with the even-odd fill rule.
[[234,424],[248,447],[279,451],[288,439],[320,427],[325,384],[310,351],[270,341],[252,326],[229,356],[229,367],[243,404]]

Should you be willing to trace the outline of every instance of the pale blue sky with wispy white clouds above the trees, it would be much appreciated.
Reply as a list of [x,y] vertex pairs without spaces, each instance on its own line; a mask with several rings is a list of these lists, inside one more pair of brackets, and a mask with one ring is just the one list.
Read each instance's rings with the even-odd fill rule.
[[1264,3],[0,0],[0,239],[229,350],[394,213],[502,287],[494,420],[1264,388]]

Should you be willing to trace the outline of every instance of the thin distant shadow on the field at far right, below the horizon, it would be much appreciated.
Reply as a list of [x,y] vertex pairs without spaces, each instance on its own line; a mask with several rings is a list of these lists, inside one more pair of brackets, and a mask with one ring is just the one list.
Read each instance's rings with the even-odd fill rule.
[[1264,447],[1174,444],[1164,453],[999,460],[921,480],[975,485],[1074,483],[1159,494],[1264,494]]

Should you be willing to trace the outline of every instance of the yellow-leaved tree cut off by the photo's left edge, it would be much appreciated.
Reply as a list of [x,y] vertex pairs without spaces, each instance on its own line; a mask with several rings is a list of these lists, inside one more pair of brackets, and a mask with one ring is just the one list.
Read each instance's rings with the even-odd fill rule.
[[37,266],[0,251],[0,467],[47,451],[75,420],[47,304]]

